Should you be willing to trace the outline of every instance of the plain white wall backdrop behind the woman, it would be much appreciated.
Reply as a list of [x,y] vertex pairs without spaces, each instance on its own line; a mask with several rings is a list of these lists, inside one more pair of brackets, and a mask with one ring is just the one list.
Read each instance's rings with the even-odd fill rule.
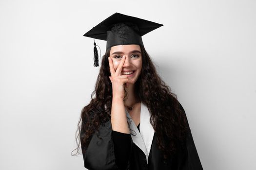
[[115,12],[164,24],[142,39],[204,170],[256,170],[255,0],[0,0],[0,170],[85,169],[71,151],[98,68],[82,35]]

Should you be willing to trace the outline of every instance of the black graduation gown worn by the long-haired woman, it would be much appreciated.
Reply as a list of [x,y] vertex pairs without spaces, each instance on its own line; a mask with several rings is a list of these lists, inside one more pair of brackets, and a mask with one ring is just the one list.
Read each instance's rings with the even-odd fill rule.
[[[121,170],[117,164],[115,157],[117,147],[114,147],[113,132],[110,119],[101,124],[98,133],[92,135],[88,148],[83,152],[84,167],[88,170]],[[81,135],[83,135],[81,130]],[[119,133],[119,137],[126,139],[129,134]],[[131,139],[131,137],[130,137]],[[178,147],[177,153],[173,158],[163,162],[161,151],[157,145],[157,134],[154,134],[151,150],[146,161],[145,154],[138,146],[130,140],[130,153],[126,170],[202,170],[202,166],[197,154],[197,149],[194,144],[193,137],[189,132],[186,138],[186,148]],[[82,151],[85,150],[83,146]],[[125,149],[127,150],[127,148]],[[129,150],[129,149],[128,149]],[[119,152],[120,153],[120,152]],[[120,167],[121,168],[121,167]]]

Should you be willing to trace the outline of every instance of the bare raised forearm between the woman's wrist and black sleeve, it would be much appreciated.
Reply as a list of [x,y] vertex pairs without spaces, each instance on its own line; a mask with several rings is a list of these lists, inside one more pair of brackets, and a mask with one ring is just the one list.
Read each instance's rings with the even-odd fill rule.
[[113,98],[111,108],[112,130],[130,134],[127,118],[125,114],[124,102],[121,98]]

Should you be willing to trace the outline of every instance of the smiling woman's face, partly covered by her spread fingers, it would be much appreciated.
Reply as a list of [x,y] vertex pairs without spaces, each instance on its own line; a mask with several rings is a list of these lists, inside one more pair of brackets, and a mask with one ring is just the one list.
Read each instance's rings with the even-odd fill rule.
[[135,84],[142,68],[142,56],[139,45],[132,44],[111,47],[109,57],[113,61],[115,71],[123,56],[125,56],[125,61],[122,66],[121,75],[128,75],[128,79]]

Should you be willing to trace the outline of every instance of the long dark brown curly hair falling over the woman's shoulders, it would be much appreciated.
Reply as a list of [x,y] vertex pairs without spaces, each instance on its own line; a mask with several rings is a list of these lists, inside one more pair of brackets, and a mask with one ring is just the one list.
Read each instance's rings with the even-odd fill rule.
[[[136,94],[139,100],[147,105],[151,113],[150,123],[157,135],[158,148],[162,151],[163,158],[167,159],[176,153],[178,144],[184,143],[190,129],[176,94],[172,93],[168,85],[161,80],[144,47],[140,46],[140,49],[142,69],[135,83]],[[75,150],[77,153],[80,153],[80,144],[84,148],[82,151],[86,152],[92,135],[97,133],[100,124],[110,119],[112,84],[109,79],[111,76],[108,63],[109,53],[110,49],[102,58],[91,102],[81,111],[76,132],[78,148]],[[77,153],[72,155],[77,155]]]

